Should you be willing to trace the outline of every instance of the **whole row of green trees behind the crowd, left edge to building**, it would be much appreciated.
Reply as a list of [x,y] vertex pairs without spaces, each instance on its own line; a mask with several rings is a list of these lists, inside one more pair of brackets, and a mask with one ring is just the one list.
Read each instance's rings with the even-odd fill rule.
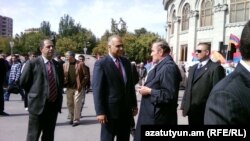
[[87,53],[92,55],[106,55],[108,53],[107,41],[111,35],[120,35],[123,38],[125,55],[137,63],[146,61],[150,57],[151,44],[159,35],[148,32],[145,28],[136,29],[134,33],[127,31],[127,23],[120,18],[117,22],[111,19],[110,30],[106,30],[100,39],[91,30],[83,28],[69,15],[65,14],[59,22],[59,32],[51,31],[49,21],[42,21],[39,32],[20,33],[14,39],[0,37],[0,46],[3,52],[10,52],[9,41],[14,41],[14,53],[39,52],[39,42],[52,35],[56,43],[56,52],[64,54],[66,51]]

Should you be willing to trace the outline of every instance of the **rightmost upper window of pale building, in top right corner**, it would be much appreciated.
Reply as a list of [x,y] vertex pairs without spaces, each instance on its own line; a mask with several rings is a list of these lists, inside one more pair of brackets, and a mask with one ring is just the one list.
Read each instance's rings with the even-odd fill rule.
[[230,23],[247,21],[250,0],[231,0],[230,2]]

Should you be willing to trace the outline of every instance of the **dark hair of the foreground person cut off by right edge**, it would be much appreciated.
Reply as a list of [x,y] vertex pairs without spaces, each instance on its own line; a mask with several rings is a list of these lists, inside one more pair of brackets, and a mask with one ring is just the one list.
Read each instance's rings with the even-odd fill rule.
[[246,23],[241,33],[240,53],[243,60],[250,60],[250,20]]

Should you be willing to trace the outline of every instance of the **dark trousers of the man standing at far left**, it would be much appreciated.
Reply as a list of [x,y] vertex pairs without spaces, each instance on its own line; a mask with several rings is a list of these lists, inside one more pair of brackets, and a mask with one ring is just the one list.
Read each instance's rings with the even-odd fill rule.
[[38,141],[41,133],[41,141],[54,141],[57,115],[56,103],[52,102],[46,102],[41,115],[30,113],[27,141]]

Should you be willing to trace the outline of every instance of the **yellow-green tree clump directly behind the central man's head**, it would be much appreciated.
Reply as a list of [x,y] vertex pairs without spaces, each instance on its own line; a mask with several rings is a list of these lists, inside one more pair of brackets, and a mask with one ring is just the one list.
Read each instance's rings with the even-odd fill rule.
[[[148,32],[145,28],[136,29],[135,33],[127,32],[126,23],[120,19],[121,26],[111,19],[111,32],[106,31],[101,38],[100,43],[93,50],[94,55],[106,55],[107,41],[110,35],[116,34],[123,38],[125,55],[131,61],[145,62],[150,58],[151,44],[159,37],[155,33]],[[120,27],[120,28],[119,28]]]

